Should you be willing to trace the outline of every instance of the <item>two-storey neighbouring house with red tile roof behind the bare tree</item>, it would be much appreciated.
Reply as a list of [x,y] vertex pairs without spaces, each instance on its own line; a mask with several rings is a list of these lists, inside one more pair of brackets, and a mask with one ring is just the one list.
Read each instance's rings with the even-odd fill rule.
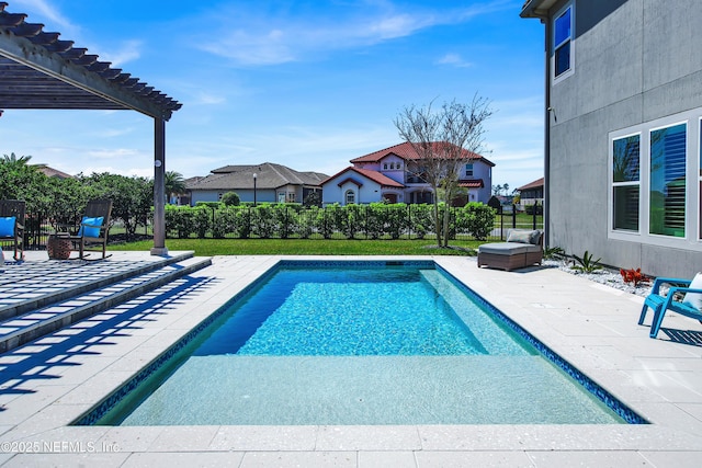
[[[487,203],[495,164],[480,155],[466,152],[467,162],[460,174],[466,202]],[[322,204],[432,203],[431,186],[421,176],[421,159],[408,142],[392,146],[351,160],[352,167],[322,182]]]

